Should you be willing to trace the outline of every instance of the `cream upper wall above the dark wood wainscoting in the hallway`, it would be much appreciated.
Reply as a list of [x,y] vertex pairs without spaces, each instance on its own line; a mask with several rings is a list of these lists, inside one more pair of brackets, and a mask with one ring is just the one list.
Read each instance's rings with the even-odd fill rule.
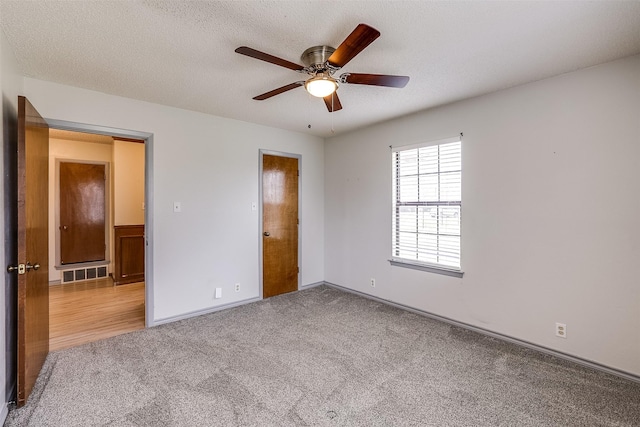
[[115,225],[144,224],[144,144],[113,141]]

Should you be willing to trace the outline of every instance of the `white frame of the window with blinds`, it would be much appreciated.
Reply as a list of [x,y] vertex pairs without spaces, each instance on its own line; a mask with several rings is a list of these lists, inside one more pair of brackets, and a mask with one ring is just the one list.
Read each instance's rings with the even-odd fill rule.
[[[400,172],[400,169],[398,167],[398,161],[397,161],[397,156],[398,156],[398,152],[402,152],[402,151],[409,151],[409,150],[417,150],[423,147],[432,147],[432,146],[437,146],[437,145],[444,145],[444,144],[450,144],[450,143],[455,143],[455,142],[459,142],[460,143],[460,200],[458,201],[403,201],[402,204],[399,204],[399,200],[397,200],[397,180],[398,180],[398,174]],[[417,144],[410,144],[410,145],[403,145],[403,146],[395,146],[395,147],[390,147],[391,148],[391,169],[392,169],[392,224],[391,224],[391,258],[389,259],[389,262],[391,263],[392,266],[397,266],[397,267],[406,267],[406,268],[411,268],[411,269],[417,269],[417,270],[422,270],[422,271],[428,271],[428,272],[432,272],[432,273],[438,273],[438,274],[444,274],[447,276],[453,276],[453,277],[462,277],[464,272],[462,271],[462,134],[460,134],[459,136],[455,136],[455,137],[451,137],[451,138],[445,138],[445,139],[439,139],[439,140],[435,140],[435,141],[425,141],[425,142],[421,142],[421,143],[417,143]],[[440,155],[438,155],[438,163],[440,163]],[[437,175],[440,177],[440,174],[442,173],[446,173],[446,172],[437,172]],[[425,174],[426,175],[426,174]],[[440,182],[440,180],[438,179],[438,182]],[[438,189],[440,189],[440,184],[438,183]],[[408,204],[406,204],[408,203]],[[398,251],[398,246],[399,244],[397,243],[397,239],[399,237],[399,217],[398,217],[398,208],[400,206],[431,206],[431,207],[435,207],[435,208],[439,208],[441,206],[455,206],[455,207],[459,207],[460,208],[460,214],[458,216],[459,220],[460,220],[460,228],[459,228],[459,238],[460,238],[460,246],[459,246],[459,250],[458,250],[458,257],[459,257],[459,265],[458,266],[449,266],[449,265],[445,265],[445,264],[439,264],[436,262],[427,262],[427,261],[420,261],[420,260],[416,260],[416,259],[409,259],[409,258],[403,258],[400,256],[397,256],[396,253]],[[416,231],[417,233],[417,231]],[[437,234],[438,236],[440,235],[440,233]],[[417,243],[416,243],[416,251],[417,251]]]

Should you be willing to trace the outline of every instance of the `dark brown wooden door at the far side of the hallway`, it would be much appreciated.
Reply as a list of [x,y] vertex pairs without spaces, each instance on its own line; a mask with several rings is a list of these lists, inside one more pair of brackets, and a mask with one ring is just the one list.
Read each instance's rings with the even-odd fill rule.
[[105,259],[105,166],[60,163],[60,263]]

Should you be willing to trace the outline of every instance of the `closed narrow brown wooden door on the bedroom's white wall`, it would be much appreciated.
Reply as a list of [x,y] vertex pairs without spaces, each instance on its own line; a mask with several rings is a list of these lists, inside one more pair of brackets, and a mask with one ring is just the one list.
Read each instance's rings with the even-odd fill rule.
[[262,157],[262,290],[298,289],[298,159]]

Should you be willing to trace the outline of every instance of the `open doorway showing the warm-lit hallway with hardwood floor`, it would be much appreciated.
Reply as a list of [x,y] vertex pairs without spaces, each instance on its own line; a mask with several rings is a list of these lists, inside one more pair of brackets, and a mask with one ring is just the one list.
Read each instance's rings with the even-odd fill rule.
[[[51,350],[145,327],[144,142],[50,131]],[[139,230],[134,257],[123,229]]]

